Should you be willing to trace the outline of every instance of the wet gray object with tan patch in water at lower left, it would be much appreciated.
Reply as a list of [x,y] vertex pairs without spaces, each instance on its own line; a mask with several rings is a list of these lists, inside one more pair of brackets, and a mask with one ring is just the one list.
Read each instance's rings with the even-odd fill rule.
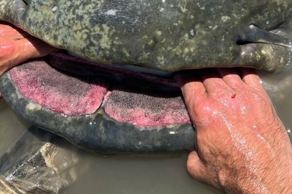
[[76,179],[78,159],[59,136],[31,127],[0,157],[1,194],[58,194]]

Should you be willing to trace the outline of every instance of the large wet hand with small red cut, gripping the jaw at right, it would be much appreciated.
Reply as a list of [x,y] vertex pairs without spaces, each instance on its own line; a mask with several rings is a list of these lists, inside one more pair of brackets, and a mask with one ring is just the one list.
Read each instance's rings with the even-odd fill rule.
[[194,178],[229,194],[291,193],[291,142],[255,72],[206,69],[175,79],[196,128],[187,161]]

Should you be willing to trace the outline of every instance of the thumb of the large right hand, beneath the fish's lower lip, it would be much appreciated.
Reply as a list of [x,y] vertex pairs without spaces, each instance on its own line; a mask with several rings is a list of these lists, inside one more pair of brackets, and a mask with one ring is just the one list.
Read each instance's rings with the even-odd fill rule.
[[186,162],[187,171],[190,173],[190,175],[193,178],[196,178],[197,180],[205,181],[205,166],[203,162],[201,161],[198,153],[196,151],[192,151]]

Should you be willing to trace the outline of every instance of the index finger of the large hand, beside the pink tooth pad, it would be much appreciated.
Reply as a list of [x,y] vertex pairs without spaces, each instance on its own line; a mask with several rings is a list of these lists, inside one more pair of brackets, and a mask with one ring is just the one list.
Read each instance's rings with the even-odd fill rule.
[[200,76],[195,71],[180,71],[174,79],[181,87],[187,107],[193,107],[193,103],[197,103],[202,97],[206,97],[206,89]]

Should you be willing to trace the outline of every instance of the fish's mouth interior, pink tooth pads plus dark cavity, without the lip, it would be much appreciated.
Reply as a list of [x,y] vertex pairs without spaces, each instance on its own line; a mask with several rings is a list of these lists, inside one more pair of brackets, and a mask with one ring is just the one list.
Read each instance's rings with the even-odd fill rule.
[[117,122],[140,127],[190,122],[181,93],[170,79],[85,64],[64,54],[50,60],[66,72],[38,59],[11,69],[10,76],[21,95],[56,113],[75,116],[104,109]]

